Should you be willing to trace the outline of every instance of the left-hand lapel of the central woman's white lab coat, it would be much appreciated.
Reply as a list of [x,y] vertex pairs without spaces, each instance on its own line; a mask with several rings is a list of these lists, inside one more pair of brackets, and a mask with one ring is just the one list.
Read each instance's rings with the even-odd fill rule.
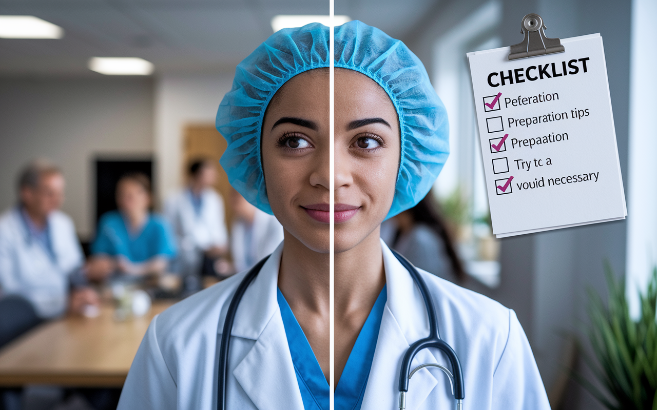
[[277,300],[283,243],[244,293],[248,308],[237,310],[233,336],[256,339],[233,375],[259,410],[304,410]]

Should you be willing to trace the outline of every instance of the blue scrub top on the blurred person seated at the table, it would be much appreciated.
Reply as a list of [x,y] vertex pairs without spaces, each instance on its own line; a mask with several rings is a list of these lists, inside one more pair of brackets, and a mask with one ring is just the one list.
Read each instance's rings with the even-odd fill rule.
[[122,255],[131,262],[144,262],[153,256],[174,256],[175,243],[169,224],[160,216],[148,215],[146,224],[131,234],[118,211],[102,215],[91,253]]

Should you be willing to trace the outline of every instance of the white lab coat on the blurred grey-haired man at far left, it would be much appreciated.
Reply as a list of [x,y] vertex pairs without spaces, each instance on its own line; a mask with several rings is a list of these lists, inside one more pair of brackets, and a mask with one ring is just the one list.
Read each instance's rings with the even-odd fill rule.
[[73,221],[54,211],[48,217],[55,260],[32,239],[18,207],[0,216],[0,288],[30,300],[41,318],[66,310],[69,276],[83,264]]

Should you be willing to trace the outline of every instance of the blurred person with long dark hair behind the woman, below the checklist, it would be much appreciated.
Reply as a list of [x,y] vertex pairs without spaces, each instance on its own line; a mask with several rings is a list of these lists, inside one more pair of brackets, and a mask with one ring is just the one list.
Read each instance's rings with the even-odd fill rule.
[[417,268],[455,283],[466,273],[445,221],[429,192],[415,207],[386,220],[381,238]]

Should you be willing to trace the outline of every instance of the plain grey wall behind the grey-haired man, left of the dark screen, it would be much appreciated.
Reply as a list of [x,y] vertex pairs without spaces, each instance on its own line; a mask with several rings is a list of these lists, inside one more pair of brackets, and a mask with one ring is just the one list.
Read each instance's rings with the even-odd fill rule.
[[0,209],[20,167],[47,157],[66,177],[64,211],[93,233],[95,155],[151,155],[152,79],[0,78]]

